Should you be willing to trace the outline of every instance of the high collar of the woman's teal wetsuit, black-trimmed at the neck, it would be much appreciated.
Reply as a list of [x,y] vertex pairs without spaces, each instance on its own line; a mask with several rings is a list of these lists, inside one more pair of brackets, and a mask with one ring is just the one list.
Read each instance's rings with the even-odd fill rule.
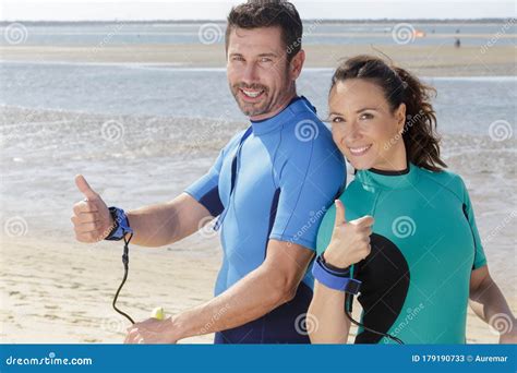
[[402,171],[383,171],[371,168],[360,170],[356,177],[364,184],[385,189],[406,189],[417,184],[419,168],[411,163]]

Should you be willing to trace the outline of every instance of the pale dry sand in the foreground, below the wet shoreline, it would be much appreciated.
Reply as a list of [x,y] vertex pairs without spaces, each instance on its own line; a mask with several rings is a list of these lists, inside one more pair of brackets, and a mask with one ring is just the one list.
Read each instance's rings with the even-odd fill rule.
[[[70,236],[60,242],[28,238],[2,239],[1,334],[2,344],[119,344],[129,322],[117,314],[111,301],[122,277],[121,245],[87,246]],[[201,243],[200,243],[201,244]],[[203,244],[216,250],[217,239]],[[184,311],[212,298],[219,254],[200,257],[178,254],[176,248],[195,251],[192,244],[170,248],[131,248],[130,277],[119,306],[135,320],[152,309]],[[509,298],[512,286],[503,284]],[[356,306],[354,315],[359,316]],[[349,341],[353,340],[356,328]],[[192,337],[181,344],[211,344],[213,335]],[[467,342],[495,344],[497,336],[472,311],[468,313]]]

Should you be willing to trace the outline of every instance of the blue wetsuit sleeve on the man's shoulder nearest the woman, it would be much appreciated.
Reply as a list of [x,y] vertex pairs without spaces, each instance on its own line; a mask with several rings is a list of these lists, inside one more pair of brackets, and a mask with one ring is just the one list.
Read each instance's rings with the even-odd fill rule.
[[346,181],[342,155],[329,133],[320,135],[323,139],[291,146],[294,149],[279,176],[280,194],[269,239],[316,250],[320,224]]

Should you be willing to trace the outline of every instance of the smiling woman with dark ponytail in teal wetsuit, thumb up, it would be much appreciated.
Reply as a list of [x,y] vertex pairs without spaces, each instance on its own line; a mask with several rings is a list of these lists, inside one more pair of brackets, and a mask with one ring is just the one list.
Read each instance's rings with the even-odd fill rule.
[[464,344],[469,299],[482,320],[507,322],[501,342],[516,342],[467,189],[444,170],[432,92],[375,57],[334,74],[333,137],[358,171],[320,227],[312,342],[347,341],[359,287],[357,344]]

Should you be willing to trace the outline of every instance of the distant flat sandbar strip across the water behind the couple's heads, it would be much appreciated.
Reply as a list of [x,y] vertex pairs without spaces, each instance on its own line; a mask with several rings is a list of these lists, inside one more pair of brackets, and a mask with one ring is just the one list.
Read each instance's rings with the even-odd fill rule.
[[[308,45],[306,68],[335,68],[338,61],[360,55],[386,55],[425,76],[515,75],[515,46],[368,46]],[[223,45],[131,45],[103,47],[0,46],[4,61],[155,63],[184,68],[224,68]]]

